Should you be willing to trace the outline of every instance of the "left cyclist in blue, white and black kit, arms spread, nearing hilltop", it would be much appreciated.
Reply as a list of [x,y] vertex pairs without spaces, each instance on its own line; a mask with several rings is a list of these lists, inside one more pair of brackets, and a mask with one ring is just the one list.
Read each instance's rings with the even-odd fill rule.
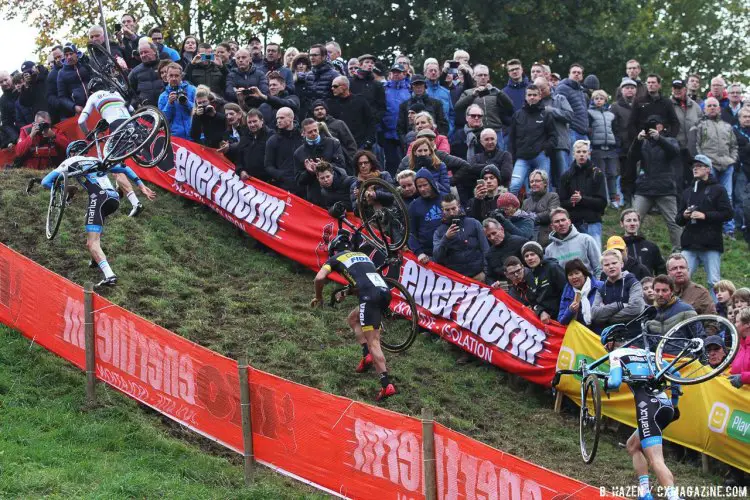
[[104,273],[104,279],[96,286],[111,286],[117,283],[117,275],[112,271],[107,262],[107,256],[102,251],[101,234],[104,219],[114,213],[120,206],[120,196],[112,186],[112,181],[107,177],[107,172],[126,175],[130,180],[135,182],[149,200],[153,200],[156,195],[148,186],[143,184],[143,181],[138,178],[130,167],[116,165],[108,170],[102,170],[102,163],[96,158],[78,156],[78,153],[86,149],[87,146],[86,141],[71,142],[66,151],[68,158],[42,179],[42,186],[52,189],[55,179],[62,175],[63,172],[85,172],[83,175],[77,176],[76,180],[89,195],[89,204],[86,209],[85,218],[86,248],[88,248],[92,260],[99,266],[102,273]]

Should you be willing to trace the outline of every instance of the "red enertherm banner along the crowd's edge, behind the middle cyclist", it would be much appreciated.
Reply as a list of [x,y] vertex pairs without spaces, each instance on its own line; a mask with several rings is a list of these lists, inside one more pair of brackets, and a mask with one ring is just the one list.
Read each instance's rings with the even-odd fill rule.
[[[162,188],[210,206],[279,253],[318,270],[336,231],[325,210],[255,179],[241,180],[215,150],[173,139],[174,156],[158,168],[132,165]],[[502,290],[406,253],[401,282],[414,295],[422,327],[475,356],[540,385],[555,370],[565,330],[543,325]],[[311,288],[312,290],[312,288]]]

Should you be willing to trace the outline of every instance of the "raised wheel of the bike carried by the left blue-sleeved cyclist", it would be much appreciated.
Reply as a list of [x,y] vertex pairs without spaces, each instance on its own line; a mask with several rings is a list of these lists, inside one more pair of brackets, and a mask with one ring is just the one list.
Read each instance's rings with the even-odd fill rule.
[[124,161],[147,147],[160,130],[162,116],[146,108],[122,122],[104,143],[104,163]]

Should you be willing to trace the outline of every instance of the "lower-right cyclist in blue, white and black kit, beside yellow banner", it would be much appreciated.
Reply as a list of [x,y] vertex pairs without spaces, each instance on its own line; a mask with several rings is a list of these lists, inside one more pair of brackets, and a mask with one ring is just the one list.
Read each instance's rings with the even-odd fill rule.
[[669,387],[672,396],[668,397],[664,386],[653,377],[654,354],[645,349],[621,347],[631,337],[625,325],[613,325],[602,332],[601,340],[609,352],[610,364],[604,387],[607,391],[617,390],[626,383],[635,397],[638,428],[628,439],[627,450],[638,474],[638,499],[653,500],[648,477],[650,463],[659,483],[665,488],[667,500],[677,500],[674,476],[664,463],[662,433],[680,418],[677,408],[680,386],[672,383]]

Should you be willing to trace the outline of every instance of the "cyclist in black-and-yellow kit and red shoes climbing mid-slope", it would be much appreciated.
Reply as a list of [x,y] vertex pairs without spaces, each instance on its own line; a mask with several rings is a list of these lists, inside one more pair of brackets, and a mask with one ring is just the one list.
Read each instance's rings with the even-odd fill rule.
[[353,250],[351,236],[347,231],[339,234],[328,244],[328,261],[315,276],[315,298],[311,305],[323,305],[323,287],[328,275],[336,271],[359,294],[359,306],[349,313],[347,321],[354,330],[357,342],[362,346],[362,360],[357,366],[357,373],[366,371],[371,365],[380,374],[381,389],[376,401],[397,394],[396,386],[388,379],[385,356],[380,346],[380,328],[383,309],[391,301],[391,292],[383,277],[378,273],[375,264],[362,252]]

